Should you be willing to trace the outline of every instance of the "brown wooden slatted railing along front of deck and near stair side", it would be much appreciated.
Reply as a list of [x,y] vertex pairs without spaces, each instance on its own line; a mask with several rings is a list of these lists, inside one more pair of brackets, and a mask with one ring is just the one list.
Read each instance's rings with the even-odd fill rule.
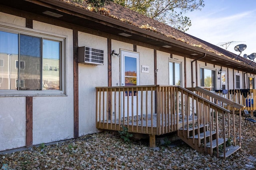
[[[192,128],[193,142],[198,140],[200,147],[213,139],[212,135],[205,141],[196,139],[195,133],[200,133],[196,127],[206,127],[204,135],[206,131],[216,131],[217,139],[219,135],[226,138],[226,113],[230,111],[180,86],[96,87],[98,129],[119,131],[125,126],[132,133],[162,135]],[[186,137],[190,135],[187,133]],[[235,142],[235,133],[233,136]]]

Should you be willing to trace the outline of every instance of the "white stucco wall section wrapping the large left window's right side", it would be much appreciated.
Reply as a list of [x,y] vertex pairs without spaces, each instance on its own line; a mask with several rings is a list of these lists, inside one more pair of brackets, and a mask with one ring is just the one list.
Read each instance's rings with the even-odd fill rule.
[[38,21],[33,29],[66,37],[67,96],[33,97],[33,145],[70,139],[74,136],[73,31]]

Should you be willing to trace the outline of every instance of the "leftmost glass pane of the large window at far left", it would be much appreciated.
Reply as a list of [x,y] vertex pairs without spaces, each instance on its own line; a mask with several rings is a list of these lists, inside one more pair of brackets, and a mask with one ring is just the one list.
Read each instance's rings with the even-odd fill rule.
[[15,78],[18,77],[18,69],[15,69],[15,61],[18,61],[18,49],[18,34],[0,31],[0,90],[17,89]]

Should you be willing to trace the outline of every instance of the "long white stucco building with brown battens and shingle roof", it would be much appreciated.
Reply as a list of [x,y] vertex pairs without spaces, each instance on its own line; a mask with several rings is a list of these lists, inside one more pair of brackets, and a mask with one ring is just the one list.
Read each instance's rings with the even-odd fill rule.
[[99,132],[95,87],[255,88],[250,60],[114,3],[0,4],[0,151]]

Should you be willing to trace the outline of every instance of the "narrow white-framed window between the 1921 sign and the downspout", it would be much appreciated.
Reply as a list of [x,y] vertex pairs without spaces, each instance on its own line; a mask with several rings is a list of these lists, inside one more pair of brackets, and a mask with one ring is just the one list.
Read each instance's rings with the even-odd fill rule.
[[169,85],[181,84],[181,62],[169,61]]

